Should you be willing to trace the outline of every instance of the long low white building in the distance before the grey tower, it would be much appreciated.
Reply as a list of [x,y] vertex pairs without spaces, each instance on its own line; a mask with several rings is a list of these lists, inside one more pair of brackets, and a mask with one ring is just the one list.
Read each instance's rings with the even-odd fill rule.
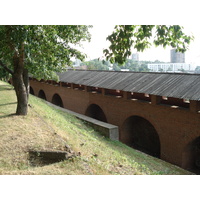
[[155,63],[148,64],[152,72],[181,72],[182,70],[191,70],[190,64],[187,63]]

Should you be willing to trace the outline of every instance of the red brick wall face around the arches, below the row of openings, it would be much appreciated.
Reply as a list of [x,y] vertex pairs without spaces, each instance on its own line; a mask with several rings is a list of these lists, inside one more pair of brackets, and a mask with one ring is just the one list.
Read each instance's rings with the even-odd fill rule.
[[106,115],[107,122],[119,126],[120,140],[123,142],[123,123],[130,116],[140,116],[148,120],[156,129],[161,145],[161,159],[180,167],[190,164],[187,145],[200,136],[200,114],[189,108],[172,108],[170,105],[153,105],[148,101],[116,98],[53,86],[31,80],[30,85],[36,96],[43,89],[47,100],[51,102],[55,93],[62,98],[64,107],[77,113],[85,114],[90,104],[97,104]]

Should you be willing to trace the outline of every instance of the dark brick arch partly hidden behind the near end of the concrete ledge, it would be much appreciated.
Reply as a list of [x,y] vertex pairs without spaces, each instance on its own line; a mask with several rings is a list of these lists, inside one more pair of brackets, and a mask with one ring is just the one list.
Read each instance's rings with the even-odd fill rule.
[[90,104],[86,109],[85,115],[102,122],[107,122],[103,109],[97,104]]

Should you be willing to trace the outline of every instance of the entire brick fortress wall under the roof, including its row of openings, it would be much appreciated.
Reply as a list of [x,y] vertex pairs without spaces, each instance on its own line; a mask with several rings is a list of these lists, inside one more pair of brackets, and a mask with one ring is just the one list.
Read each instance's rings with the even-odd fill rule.
[[30,80],[30,86],[36,96],[43,90],[49,102],[52,102],[54,94],[58,94],[64,108],[80,114],[86,114],[90,105],[98,105],[107,122],[119,127],[120,141],[127,144],[130,135],[125,127],[126,120],[131,116],[147,120],[159,136],[159,157],[182,168],[192,168],[194,155],[191,144],[200,136],[199,102],[186,103],[176,98],[34,79]]

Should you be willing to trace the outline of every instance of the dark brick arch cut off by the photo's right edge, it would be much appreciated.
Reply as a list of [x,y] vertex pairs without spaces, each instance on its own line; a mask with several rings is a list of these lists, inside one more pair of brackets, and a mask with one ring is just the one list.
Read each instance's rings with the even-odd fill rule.
[[185,169],[200,174],[200,136],[186,145],[182,154],[182,162]]

